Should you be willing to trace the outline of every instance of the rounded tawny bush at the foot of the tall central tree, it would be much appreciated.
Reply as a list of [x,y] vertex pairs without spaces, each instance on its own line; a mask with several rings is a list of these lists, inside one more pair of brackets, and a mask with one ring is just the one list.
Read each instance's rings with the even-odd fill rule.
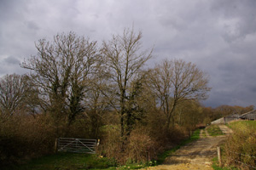
[[99,147],[99,153],[125,163],[146,162],[155,158],[156,144],[145,129],[137,127],[129,137],[121,138],[118,126],[105,126],[105,135]]

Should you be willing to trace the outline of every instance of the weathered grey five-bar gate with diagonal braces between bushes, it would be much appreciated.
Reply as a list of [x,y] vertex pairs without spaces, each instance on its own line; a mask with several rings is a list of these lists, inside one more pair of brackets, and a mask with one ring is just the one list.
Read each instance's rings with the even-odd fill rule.
[[55,151],[95,154],[98,144],[96,139],[60,138],[55,141]]

